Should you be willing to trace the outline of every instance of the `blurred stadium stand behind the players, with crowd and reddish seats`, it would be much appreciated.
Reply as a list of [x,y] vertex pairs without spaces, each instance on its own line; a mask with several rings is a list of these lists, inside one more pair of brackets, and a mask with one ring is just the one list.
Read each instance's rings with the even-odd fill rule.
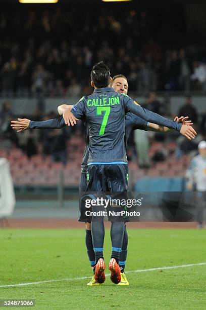
[[[38,130],[19,135],[11,130],[11,119],[24,116],[40,121],[56,117],[56,112],[43,113],[40,102],[29,114],[30,106],[25,112],[20,101],[15,103],[14,113],[11,104],[14,98],[33,100],[45,96],[46,99],[61,97],[69,101],[70,97],[89,94],[92,92],[90,68],[100,59],[107,62],[113,75],[124,73],[127,76],[129,94],[136,92],[145,97],[142,102],[145,107],[170,118],[174,117],[174,111],[169,104],[166,106],[167,95],[165,102],[160,102],[154,91],[174,94],[179,91],[183,96],[188,91],[204,94],[206,73],[205,76],[198,73],[206,72],[206,49],[203,44],[199,46],[200,33],[186,27],[183,8],[174,4],[163,6],[161,12],[151,5],[140,6],[139,10],[130,9],[129,5],[127,8],[118,6],[114,10],[111,5],[111,14],[108,9],[97,10],[96,6],[85,7],[83,11],[69,6],[58,6],[55,11],[31,7],[29,14],[23,7],[16,12],[6,6],[2,8],[0,27],[7,38],[0,35],[0,156],[9,159],[15,185],[58,184],[61,169],[66,185],[78,185],[84,130],[78,125],[59,133]],[[174,15],[181,16],[175,24]],[[91,27],[91,22],[95,26]],[[24,29],[23,36],[19,25]],[[201,109],[202,106],[203,101]],[[187,111],[188,106],[184,108]],[[196,109],[193,102],[193,110]],[[195,111],[195,115],[197,113],[199,111]],[[204,114],[201,119],[200,115],[198,117],[195,129],[201,131],[201,137],[195,142],[189,143],[172,133],[167,137],[149,135],[151,165],[148,169],[137,166],[138,154],[132,134],[128,159],[133,184],[143,176],[183,177],[198,141],[205,138],[206,118]],[[60,138],[61,154],[56,153]]]

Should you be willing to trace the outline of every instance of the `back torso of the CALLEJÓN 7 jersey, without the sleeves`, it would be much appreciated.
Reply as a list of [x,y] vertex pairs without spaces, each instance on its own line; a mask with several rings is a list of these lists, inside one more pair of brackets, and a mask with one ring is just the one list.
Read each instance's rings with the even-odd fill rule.
[[83,97],[89,130],[89,162],[127,162],[123,95],[112,88]]

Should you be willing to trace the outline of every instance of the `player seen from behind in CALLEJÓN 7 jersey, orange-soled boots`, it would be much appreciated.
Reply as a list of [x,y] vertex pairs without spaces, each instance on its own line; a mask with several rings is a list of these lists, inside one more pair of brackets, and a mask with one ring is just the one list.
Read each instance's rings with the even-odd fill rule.
[[[125,115],[133,112],[147,122],[167,126],[180,131],[181,124],[167,120],[160,115],[142,108],[127,95],[117,93],[110,88],[112,82],[110,70],[104,63],[93,66],[91,71],[91,86],[94,92],[82,97],[71,112],[77,119],[86,122],[89,131],[89,157],[87,171],[87,193],[101,195],[109,192],[127,193],[128,165],[125,147]],[[86,194],[86,193],[85,193]],[[86,194],[87,195],[87,194]],[[115,196],[118,199],[119,196]],[[122,208],[121,204],[119,206]],[[104,206],[95,205],[95,211],[104,210]],[[92,209],[93,210],[93,209]],[[86,211],[87,212],[87,211]],[[97,283],[105,281],[104,217],[91,218],[92,244],[95,253],[94,280]],[[97,221],[96,221],[97,220]],[[100,220],[100,221],[99,221]],[[121,281],[121,270],[118,265],[124,235],[122,218],[111,219],[112,255],[109,263],[111,281],[118,284]]]

